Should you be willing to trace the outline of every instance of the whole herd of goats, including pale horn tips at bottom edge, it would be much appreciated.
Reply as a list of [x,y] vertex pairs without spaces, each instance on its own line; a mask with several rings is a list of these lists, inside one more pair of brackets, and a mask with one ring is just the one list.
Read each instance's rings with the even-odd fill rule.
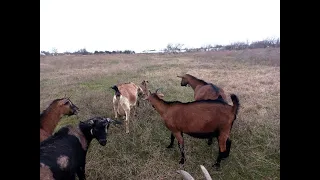
[[[132,82],[117,84],[111,87],[115,119],[125,116],[125,131],[129,133],[130,112],[135,115],[139,99],[147,100],[159,113],[165,126],[171,131],[171,142],[167,148],[172,148],[174,139],[178,140],[181,159],[185,163],[183,133],[191,137],[207,139],[212,144],[214,137],[219,144],[219,154],[214,163],[215,169],[220,169],[220,162],[229,156],[231,140],[229,139],[233,122],[239,109],[239,99],[231,94],[233,106],[229,105],[223,89],[212,83],[198,79],[190,74],[177,76],[181,78],[181,86],[191,86],[194,90],[192,102],[165,101],[164,94],[157,89],[151,93],[147,88],[148,81],[140,85]],[[107,131],[110,124],[122,124],[111,118],[93,117],[80,121],[77,126],[66,125],[54,132],[62,116],[75,115],[79,108],[70,98],[56,99],[40,113],[40,179],[75,179],[85,177],[86,154],[92,139],[100,145],[107,143]],[[208,171],[200,166],[206,179],[211,179]],[[193,179],[186,171],[178,170],[184,179]]]

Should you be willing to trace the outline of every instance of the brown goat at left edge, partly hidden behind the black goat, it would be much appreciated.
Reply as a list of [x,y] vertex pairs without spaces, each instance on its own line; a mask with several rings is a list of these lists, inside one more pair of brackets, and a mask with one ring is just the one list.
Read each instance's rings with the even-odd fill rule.
[[58,122],[64,115],[75,115],[79,108],[69,98],[53,100],[50,105],[40,113],[40,142],[52,135]]

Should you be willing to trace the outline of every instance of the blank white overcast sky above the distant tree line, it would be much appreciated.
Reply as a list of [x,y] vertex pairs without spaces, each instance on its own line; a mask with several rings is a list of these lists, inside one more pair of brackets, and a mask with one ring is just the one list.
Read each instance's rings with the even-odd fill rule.
[[40,0],[40,50],[160,50],[280,37],[280,0]]

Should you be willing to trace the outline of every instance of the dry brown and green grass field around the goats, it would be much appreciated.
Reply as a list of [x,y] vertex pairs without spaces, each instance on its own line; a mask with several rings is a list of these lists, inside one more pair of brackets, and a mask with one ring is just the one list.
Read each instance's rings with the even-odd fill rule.
[[[190,73],[238,95],[241,107],[231,132],[231,152],[221,171],[211,168],[218,154],[217,140],[188,135],[184,170],[204,179],[204,165],[213,179],[280,179],[280,48],[182,54],[47,56],[40,58],[40,111],[56,98],[71,95],[80,108],[63,117],[56,130],[93,116],[114,118],[112,85],[149,81],[161,88],[165,100],[193,100],[193,90],[181,87],[177,75]],[[123,126],[110,126],[105,147],[93,140],[87,154],[87,179],[182,179],[179,148],[166,149],[170,131],[159,114],[144,102]]]

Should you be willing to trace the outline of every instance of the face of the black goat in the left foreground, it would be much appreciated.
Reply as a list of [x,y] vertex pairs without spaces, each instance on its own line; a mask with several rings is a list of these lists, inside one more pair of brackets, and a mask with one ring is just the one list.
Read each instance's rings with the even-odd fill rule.
[[107,134],[110,123],[121,124],[121,122],[112,120],[110,118],[95,117],[89,120],[91,124],[90,133],[100,145],[105,146],[107,144]]

